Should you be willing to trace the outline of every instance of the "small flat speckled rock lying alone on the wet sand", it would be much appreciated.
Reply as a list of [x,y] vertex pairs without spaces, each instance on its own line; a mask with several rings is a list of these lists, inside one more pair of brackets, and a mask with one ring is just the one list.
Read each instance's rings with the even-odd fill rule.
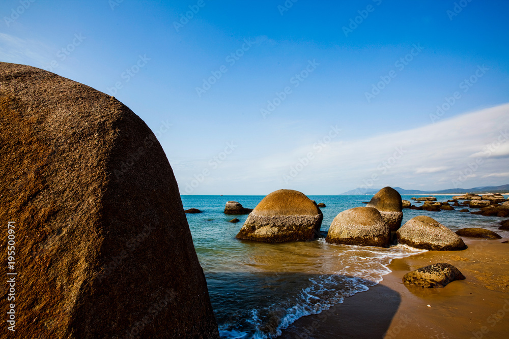
[[465,279],[453,265],[437,263],[408,272],[403,276],[403,283],[423,288],[443,288],[455,280]]

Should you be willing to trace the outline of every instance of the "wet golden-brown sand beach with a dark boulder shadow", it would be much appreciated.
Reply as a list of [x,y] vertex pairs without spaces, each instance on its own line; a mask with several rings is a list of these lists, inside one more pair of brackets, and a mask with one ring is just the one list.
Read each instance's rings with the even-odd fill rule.
[[[383,282],[321,314],[298,319],[281,338],[507,338],[509,244],[464,238],[468,249],[394,259]],[[437,262],[466,280],[442,289],[407,288],[403,275]]]

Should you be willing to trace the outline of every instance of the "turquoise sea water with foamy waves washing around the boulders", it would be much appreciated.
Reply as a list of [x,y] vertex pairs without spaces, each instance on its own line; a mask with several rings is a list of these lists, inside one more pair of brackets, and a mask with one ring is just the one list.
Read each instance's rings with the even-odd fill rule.
[[[412,196],[402,196],[410,200]],[[436,196],[447,201],[452,195]],[[314,241],[268,244],[235,239],[246,215],[224,214],[227,201],[254,208],[263,196],[182,196],[194,247],[202,265],[222,338],[272,338],[296,319],[317,314],[344,298],[378,284],[389,273],[394,258],[421,250],[397,245],[388,249],[328,244]],[[326,234],[334,217],[349,208],[365,206],[372,196],[309,196],[323,202],[321,231]],[[412,201],[413,202],[413,201]],[[414,203],[414,202],[413,202]],[[414,203],[415,204],[415,203]],[[420,204],[417,204],[420,205]],[[428,215],[455,231],[464,227],[497,230],[497,217],[454,211],[404,209],[403,223]],[[228,221],[237,218],[239,223]]]

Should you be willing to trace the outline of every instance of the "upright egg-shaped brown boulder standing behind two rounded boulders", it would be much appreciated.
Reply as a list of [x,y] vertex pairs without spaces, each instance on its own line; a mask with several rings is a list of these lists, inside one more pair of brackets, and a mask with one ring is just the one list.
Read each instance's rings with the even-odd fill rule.
[[400,228],[403,220],[403,202],[398,191],[391,187],[384,187],[371,198],[366,207],[378,209],[391,231]]

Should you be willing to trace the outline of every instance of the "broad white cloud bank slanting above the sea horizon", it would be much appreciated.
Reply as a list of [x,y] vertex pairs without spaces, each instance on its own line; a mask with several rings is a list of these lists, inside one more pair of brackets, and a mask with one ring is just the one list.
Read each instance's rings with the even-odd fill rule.
[[[310,144],[286,152],[270,149],[257,159],[232,158],[215,171],[214,184],[204,182],[203,193],[196,194],[267,194],[280,188],[340,194],[363,186],[449,189],[459,178],[461,188],[504,184],[494,181],[503,176],[491,174],[507,168],[502,157],[509,150],[509,140],[504,139],[508,128],[509,104],[504,104],[365,139],[342,140],[340,133],[320,151]],[[491,153],[486,151],[497,142]],[[299,166],[309,152],[313,160]],[[285,182],[284,175],[297,166],[301,170]],[[190,178],[193,173],[184,174]],[[182,175],[180,179],[185,180]]]

